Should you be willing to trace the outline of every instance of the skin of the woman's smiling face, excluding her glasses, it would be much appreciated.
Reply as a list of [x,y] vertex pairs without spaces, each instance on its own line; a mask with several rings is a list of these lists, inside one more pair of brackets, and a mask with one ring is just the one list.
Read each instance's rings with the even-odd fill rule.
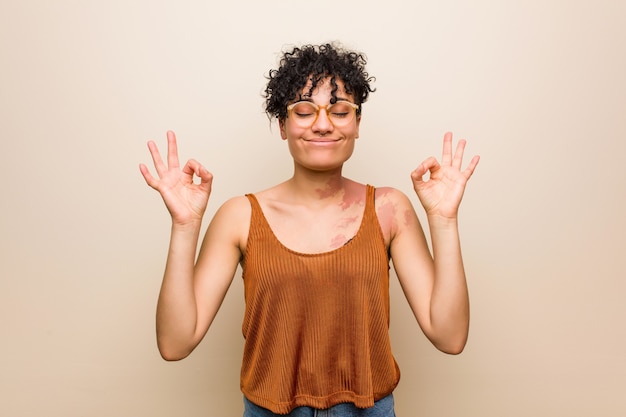
[[[309,86],[302,90],[303,100],[312,101],[318,106],[328,106],[331,100],[332,85],[330,78],[320,82],[310,97],[304,93]],[[337,80],[337,100],[346,100],[354,103],[354,98],[346,94],[344,84]],[[317,119],[310,127],[302,127],[295,117],[287,116],[280,120],[280,135],[289,145],[289,151],[296,166],[314,171],[328,171],[341,168],[354,150],[354,141],[359,137],[361,118],[355,115],[347,124],[333,125],[325,109],[320,109]]]

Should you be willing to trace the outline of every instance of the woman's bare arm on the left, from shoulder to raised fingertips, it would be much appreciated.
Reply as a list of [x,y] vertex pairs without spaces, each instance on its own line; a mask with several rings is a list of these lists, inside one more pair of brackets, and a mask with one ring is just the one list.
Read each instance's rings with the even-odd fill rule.
[[[157,343],[164,359],[179,360],[200,343],[232,281],[241,256],[240,238],[239,229],[228,225],[241,224],[239,216],[245,215],[245,206],[231,202],[230,205],[242,209],[227,210],[223,206],[218,210],[196,262],[212,175],[194,160],[180,169],[173,132],[168,132],[167,165],[153,142],[149,142],[148,147],[158,178],[143,164],[141,173],[148,185],[161,194],[172,217],[167,263],[157,304]],[[199,184],[194,183],[194,175],[200,178]]]

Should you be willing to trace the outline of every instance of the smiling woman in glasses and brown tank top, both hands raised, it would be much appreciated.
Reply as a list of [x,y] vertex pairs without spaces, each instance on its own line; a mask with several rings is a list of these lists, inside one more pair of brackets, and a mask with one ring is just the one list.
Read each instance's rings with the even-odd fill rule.
[[140,165],[172,217],[157,306],[163,358],[182,359],[198,345],[237,266],[243,268],[245,417],[319,410],[394,415],[400,373],[388,335],[390,261],[434,346],[450,354],[465,346],[469,299],[457,212],[478,157],[462,170],[465,141],[453,153],[447,133],[441,162],[428,158],[411,173],[428,218],[431,256],[402,192],[342,175],[359,137],[362,104],[373,91],[365,64],[362,54],[333,45],[283,55],[269,73],[266,111],[278,119],[293,176],[225,202],[197,259],[212,175],[195,160],[180,168],[172,132],[167,163],[148,143],[158,175]]

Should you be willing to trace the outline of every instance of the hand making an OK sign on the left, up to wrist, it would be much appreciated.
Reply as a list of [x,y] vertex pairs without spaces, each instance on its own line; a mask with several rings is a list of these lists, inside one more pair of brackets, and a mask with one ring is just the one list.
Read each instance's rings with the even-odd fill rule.
[[[172,222],[178,225],[201,222],[211,194],[213,175],[194,159],[180,169],[176,135],[172,131],[167,132],[167,166],[153,141],[148,142],[148,149],[158,178],[153,177],[144,164],[139,165],[139,170],[146,183],[161,194]],[[200,178],[200,183],[194,183],[194,175]]]

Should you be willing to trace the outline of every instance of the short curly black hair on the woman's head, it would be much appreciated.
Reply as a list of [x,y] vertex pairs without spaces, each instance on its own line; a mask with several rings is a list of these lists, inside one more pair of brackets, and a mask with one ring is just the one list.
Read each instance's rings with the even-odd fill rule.
[[[336,44],[304,45],[283,53],[278,69],[270,70],[265,88],[265,113],[268,118],[279,120],[287,118],[287,105],[302,96],[312,94],[320,81],[330,77],[332,85],[331,103],[337,101],[337,79],[343,81],[347,94],[351,94],[359,106],[361,114],[363,104],[370,92],[374,92],[370,83],[375,80],[365,71],[365,55],[348,51]],[[302,89],[311,80],[308,92]]]

